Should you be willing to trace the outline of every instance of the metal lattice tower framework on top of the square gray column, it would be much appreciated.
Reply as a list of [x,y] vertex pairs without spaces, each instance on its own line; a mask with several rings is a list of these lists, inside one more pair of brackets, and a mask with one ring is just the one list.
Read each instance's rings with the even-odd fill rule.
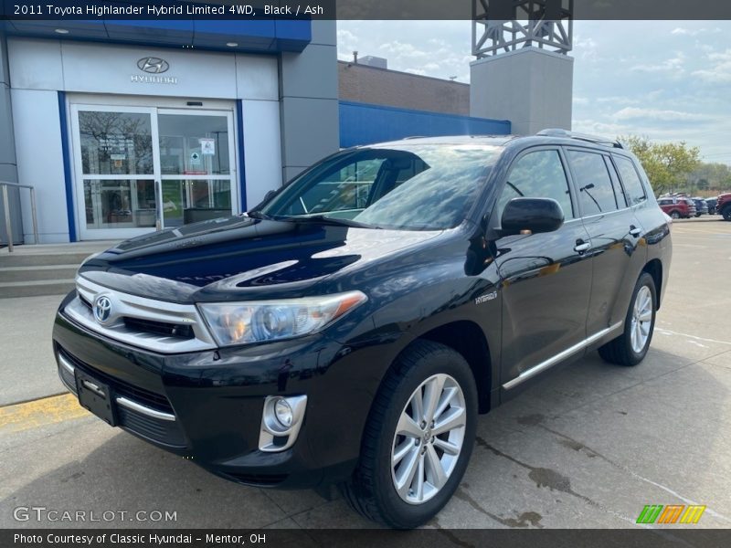
[[472,0],[472,55],[488,58],[524,47],[567,55],[573,13],[574,0]]

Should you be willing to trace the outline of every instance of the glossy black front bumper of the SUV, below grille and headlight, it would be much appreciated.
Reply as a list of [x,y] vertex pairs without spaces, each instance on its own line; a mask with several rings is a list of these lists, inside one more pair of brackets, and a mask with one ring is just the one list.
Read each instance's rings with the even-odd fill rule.
[[[73,370],[79,368],[109,385],[118,425],[135,436],[219,476],[258,486],[313,488],[346,479],[355,469],[375,388],[353,374],[357,353],[343,352],[341,344],[313,335],[153,353],[90,332],[63,308],[53,331],[61,381],[76,392]],[[308,405],[296,443],[281,452],[260,451],[265,397],[298,394],[308,396]]]

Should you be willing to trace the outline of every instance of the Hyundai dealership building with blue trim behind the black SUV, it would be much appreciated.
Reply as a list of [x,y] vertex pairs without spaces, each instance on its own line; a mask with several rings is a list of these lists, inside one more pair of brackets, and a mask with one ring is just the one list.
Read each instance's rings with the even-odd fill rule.
[[[470,87],[338,61],[334,21],[0,22],[0,182],[34,187],[40,243],[123,239],[246,211],[339,147],[570,127],[571,59],[477,53]],[[514,87],[542,68],[568,93]],[[8,188],[14,243],[33,243]]]

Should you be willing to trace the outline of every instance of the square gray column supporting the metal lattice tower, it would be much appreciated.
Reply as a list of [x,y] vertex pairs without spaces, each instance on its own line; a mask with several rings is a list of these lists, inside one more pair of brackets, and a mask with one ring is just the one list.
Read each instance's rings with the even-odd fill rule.
[[571,129],[574,59],[524,47],[471,63],[470,114],[510,120],[516,135]]

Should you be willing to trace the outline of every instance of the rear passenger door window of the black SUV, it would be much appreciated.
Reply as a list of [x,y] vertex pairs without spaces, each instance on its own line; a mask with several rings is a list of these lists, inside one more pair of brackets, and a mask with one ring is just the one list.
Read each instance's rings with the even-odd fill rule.
[[569,151],[568,158],[576,176],[581,214],[597,215],[618,209],[617,196],[602,155]]

